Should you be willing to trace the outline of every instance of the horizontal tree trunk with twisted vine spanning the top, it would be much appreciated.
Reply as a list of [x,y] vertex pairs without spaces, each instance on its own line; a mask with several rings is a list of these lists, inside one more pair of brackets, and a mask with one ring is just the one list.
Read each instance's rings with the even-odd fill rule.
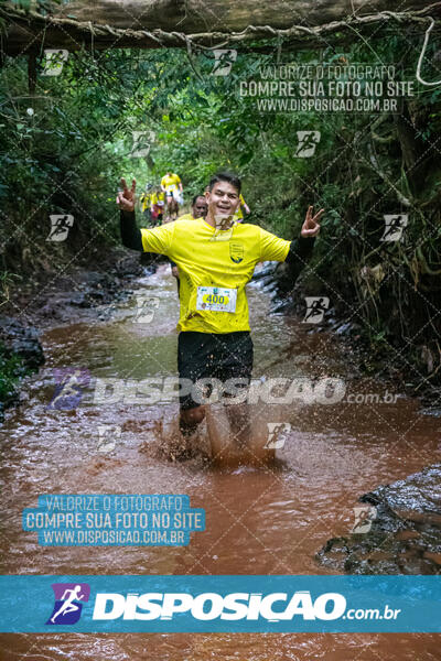
[[377,37],[384,24],[399,31],[413,26],[422,34],[428,15],[441,19],[441,1],[74,0],[54,6],[46,17],[36,12],[35,2],[28,13],[11,1],[3,1],[0,9],[0,19],[7,21],[3,45],[9,54],[42,47],[76,51],[83,45],[187,47],[189,40],[207,47],[252,42],[247,47],[256,48],[258,40],[271,37],[282,39],[283,47],[326,47],[327,39],[356,40],[354,28],[368,35],[370,30]]

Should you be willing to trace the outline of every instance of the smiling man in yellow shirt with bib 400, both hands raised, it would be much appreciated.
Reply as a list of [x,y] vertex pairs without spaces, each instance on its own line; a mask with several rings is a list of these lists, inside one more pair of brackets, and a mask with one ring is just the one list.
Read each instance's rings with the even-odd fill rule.
[[[321,209],[310,206],[294,241],[286,241],[257,225],[238,224],[240,180],[229,173],[215,174],[206,192],[206,219],[179,220],[153,229],[138,229],[135,219],[136,181],[131,188],[121,180],[118,193],[122,243],[135,250],[168,256],[181,274],[178,324],[178,367],[181,379],[235,379],[249,383],[252,342],[245,292],[259,261],[287,261],[295,274],[311,253],[319,234]],[[180,426],[191,434],[205,416],[195,394],[180,397]]]

